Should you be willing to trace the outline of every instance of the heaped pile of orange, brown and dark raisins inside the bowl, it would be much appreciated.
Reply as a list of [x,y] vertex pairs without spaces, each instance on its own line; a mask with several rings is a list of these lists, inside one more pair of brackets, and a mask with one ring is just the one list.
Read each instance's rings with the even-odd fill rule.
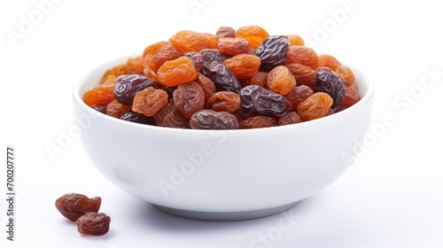
[[268,128],[315,120],[360,100],[352,70],[299,35],[259,26],[180,31],[105,72],[83,101],[167,128]]

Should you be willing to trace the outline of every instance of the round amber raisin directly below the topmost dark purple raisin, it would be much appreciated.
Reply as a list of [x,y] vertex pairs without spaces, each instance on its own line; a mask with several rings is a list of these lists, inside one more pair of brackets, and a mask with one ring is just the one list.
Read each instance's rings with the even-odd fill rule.
[[294,76],[289,72],[288,68],[284,66],[276,66],[269,72],[267,84],[268,89],[286,95],[295,88],[297,82],[295,81]]

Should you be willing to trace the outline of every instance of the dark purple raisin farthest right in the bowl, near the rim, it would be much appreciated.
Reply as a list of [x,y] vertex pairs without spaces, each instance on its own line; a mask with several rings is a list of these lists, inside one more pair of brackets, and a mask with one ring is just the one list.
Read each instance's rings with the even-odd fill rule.
[[319,67],[315,70],[315,89],[332,97],[334,100],[332,107],[340,105],[345,97],[343,81],[328,67]]

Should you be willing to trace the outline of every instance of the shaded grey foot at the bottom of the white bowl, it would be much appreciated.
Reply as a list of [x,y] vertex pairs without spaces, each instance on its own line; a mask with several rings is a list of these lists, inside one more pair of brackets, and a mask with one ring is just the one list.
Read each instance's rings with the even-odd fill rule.
[[155,206],[163,212],[187,219],[193,219],[199,221],[245,221],[245,220],[266,217],[276,213],[282,213],[290,209],[292,206],[297,205],[298,203],[299,201],[287,205],[279,205],[276,207],[271,207],[266,209],[242,211],[242,212],[197,212],[197,211],[171,208],[163,205],[155,205]]

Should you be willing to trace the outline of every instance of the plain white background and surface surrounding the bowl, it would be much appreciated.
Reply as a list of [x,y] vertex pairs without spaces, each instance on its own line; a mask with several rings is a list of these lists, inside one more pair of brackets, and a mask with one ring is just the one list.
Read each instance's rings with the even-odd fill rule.
[[[290,229],[256,247],[443,247],[443,15],[436,1],[354,0],[340,19],[333,13],[349,1],[61,0],[46,6],[41,19],[35,2],[0,4],[0,192],[8,144],[16,148],[17,167],[16,242],[3,231],[4,195],[1,247],[246,248],[275,234],[282,214],[234,222],[170,216],[107,182],[78,139],[54,158],[46,149],[74,125],[71,89],[92,68],[141,53],[179,30],[214,33],[223,25],[260,25],[271,35],[315,42],[319,54],[334,55],[375,82],[373,123],[381,125],[385,115],[395,123],[378,129],[337,182],[291,210],[297,221]],[[25,32],[23,18],[35,22]],[[12,32],[21,35],[14,40]],[[437,72],[435,81],[426,70]],[[422,79],[431,85],[425,89]],[[110,232],[78,234],[54,207],[67,192],[101,196],[101,211],[113,220]]]

